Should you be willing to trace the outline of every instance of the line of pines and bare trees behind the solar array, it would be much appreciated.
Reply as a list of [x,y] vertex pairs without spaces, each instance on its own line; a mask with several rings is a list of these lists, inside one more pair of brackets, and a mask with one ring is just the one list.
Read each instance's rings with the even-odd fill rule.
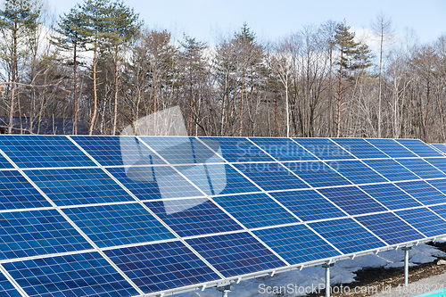
[[446,140],[446,35],[397,38],[383,13],[371,23],[372,51],[346,21],[276,41],[244,24],[209,45],[146,29],[120,1],[86,0],[55,18],[38,1],[6,0],[0,10],[6,133],[27,133],[14,117],[53,117],[119,135],[179,106],[191,136]]

